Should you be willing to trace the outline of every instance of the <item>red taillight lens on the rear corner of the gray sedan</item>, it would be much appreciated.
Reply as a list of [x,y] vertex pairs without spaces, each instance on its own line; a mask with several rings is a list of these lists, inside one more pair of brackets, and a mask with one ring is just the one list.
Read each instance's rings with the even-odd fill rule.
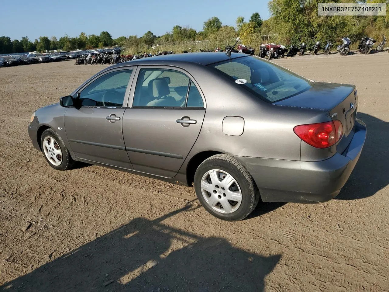
[[300,125],[294,127],[293,131],[301,140],[316,148],[331,147],[343,135],[342,123],[338,120]]

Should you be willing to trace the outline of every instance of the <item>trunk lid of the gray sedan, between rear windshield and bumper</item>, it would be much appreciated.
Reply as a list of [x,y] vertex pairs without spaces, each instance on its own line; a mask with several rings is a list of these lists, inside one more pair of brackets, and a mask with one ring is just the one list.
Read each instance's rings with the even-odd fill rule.
[[343,135],[336,144],[336,151],[343,153],[354,136],[358,95],[354,85],[316,82],[310,90],[275,103],[280,106],[293,106],[322,109],[329,112],[332,120],[339,120]]

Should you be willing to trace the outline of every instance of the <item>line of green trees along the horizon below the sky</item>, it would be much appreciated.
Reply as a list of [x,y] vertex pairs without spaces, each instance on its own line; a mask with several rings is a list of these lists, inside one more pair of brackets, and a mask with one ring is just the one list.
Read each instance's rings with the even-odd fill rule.
[[[93,49],[107,46],[126,47],[127,51],[136,53],[147,50],[150,45],[159,44],[165,48],[189,49],[191,42],[208,40],[207,46],[213,49],[219,46],[232,44],[240,36],[243,44],[259,48],[262,42],[277,42],[282,44],[299,45],[301,42],[310,46],[319,40],[322,43],[330,40],[340,42],[348,36],[355,42],[362,35],[369,35],[377,40],[381,35],[389,35],[389,11],[386,16],[318,16],[317,4],[327,0],[270,0],[268,8],[270,18],[262,20],[258,12],[250,19],[238,16],[235,26],[223,25],[221,20],[214,16],[203,23],[203,30],[196,31],[190,27],[173,26],[170,32],[156,36],[151,31],[143,36],[130,35],[112,39],[109,32],[100,35],[86,35],[81,32],[78,37],[69,37],[67,34],[57,39],[47,36],[39,37],[34,42],[28,37],[21,40],[11,40],[9,37],[0,37],[0,53],[22,53],[28,51],[45,51],[62,49],[70,51],[75,49]],[[389,0],[348,0],[348,2],[383,2]],[[333,0],[331,2],[342,2]],[[178,46],[180,44],[180,46]]]

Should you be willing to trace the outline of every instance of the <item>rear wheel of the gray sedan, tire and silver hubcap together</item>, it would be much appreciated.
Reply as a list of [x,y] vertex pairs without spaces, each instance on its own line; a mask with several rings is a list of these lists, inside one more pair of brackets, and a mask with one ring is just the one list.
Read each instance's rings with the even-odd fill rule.
[[196,170],[194,185],[203,207],[222,220],[246,218],[260,198],[249,172],[240,162],[225,154],[204,160]]

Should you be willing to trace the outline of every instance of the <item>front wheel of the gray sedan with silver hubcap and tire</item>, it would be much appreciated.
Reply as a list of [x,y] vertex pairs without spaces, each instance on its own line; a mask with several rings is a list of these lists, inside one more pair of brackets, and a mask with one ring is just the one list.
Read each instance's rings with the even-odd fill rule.
[[68,170],[73,167],[74,160],[62,138],[49,128],[42,133],[40,145],[46,161],[56,170]]

